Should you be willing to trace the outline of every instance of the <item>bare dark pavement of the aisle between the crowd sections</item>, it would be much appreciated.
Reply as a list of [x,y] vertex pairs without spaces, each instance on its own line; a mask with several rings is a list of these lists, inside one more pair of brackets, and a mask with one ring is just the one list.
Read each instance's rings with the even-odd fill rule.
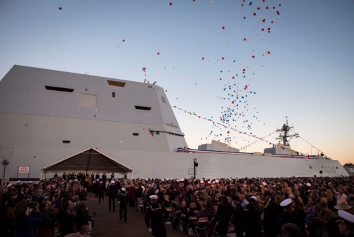
[[[94,194],[87,194],[86,206],[89,208],[89,213],[96,212],[97,216],[94,218],[93,233],[97,237],[101,236],[153,236],[145,224],[145,215],[136,211],[136,208],[127,207],[127,222],[119,220],[119,203],[115,200],[115,213],[109,211],[108,196],[104,196],[104,201],[99,203],[98,198]],[[166,224],[167,236],[178,237],[186,236],[178,229],[172,229],[171,225]]]

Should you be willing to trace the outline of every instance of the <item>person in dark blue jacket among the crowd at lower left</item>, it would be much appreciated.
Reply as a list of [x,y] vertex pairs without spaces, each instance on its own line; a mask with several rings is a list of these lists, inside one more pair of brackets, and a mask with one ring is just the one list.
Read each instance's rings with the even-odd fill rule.
[[38,203],[31,213],[27,201],[16,204],[13,210],[15,215],[15,237],[35,237],[36,226],[42,222],[42,215],[38,210]]

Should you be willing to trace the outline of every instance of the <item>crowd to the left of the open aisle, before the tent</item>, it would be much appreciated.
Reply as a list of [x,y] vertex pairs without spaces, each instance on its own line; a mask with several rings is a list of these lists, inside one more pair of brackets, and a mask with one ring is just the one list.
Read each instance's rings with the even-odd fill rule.
[[62,178],[6,181],[0,189],[0,236],[92,236],[85,185]]

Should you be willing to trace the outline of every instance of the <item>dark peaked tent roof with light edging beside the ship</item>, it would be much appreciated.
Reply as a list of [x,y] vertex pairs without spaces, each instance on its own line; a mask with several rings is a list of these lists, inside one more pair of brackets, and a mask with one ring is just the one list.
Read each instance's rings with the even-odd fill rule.
[[58,161],[55,164],[42,168],[43,173],[52,173],[60,171],[92,172],[95,173],[132,173],[129,168],[111,157],[104,155],[93,148],[84,150],[76,155]]

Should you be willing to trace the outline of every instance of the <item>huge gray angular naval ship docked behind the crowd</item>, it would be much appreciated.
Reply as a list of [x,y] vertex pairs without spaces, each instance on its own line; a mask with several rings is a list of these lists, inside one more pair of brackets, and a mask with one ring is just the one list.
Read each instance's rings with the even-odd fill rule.
[[[91,149],[132,168],[128,178],[348,176],[339,161],[290,149],[239,152],[212,141],[187,148],[164,89],[145,82],[13,66],[0,81],[1,178],[17,177]],[[99,172],[99,168],[77,172]],[[65,170],[63,170],[65,171]],[[1,173],[2,172],[2,173]],[[134,177],[133,177],[134,175]]]

